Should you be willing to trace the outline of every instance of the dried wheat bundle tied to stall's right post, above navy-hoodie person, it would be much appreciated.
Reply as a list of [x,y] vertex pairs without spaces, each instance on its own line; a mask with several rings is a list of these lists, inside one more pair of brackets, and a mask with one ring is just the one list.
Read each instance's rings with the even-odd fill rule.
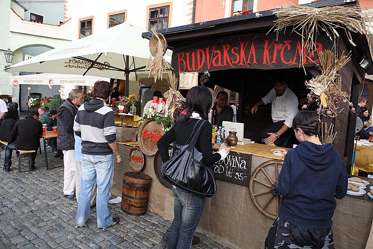
[[335,118],[345,109],[351,107],[351,111],[355,112],[353,105],[348,101],[346,93],[335,84],[335,80],[339,76],[337,71],[340,70],[351,60],[351,54],[342,54],[339,59],[330,50],[324,50],[319,53],[321,74],[316,78],[305,82],[311,93],[307,95],[308,104],[302,106],[302,109],[308,108],[313,102],[319,102],[319,108],[316,110],[319,116]]

